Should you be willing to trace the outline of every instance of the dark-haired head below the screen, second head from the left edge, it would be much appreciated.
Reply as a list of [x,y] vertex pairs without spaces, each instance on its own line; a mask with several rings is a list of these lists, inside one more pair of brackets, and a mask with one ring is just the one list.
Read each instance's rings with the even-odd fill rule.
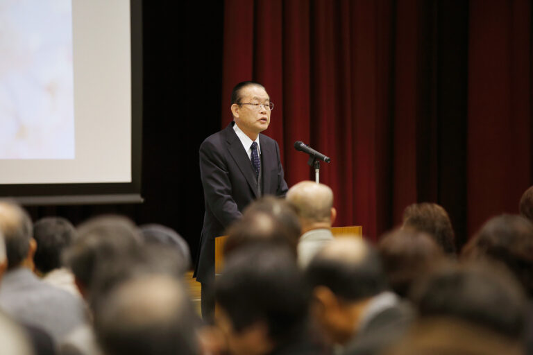
[[46,217],[33,224],[33,239],[37,241],[35,268],[49,272],[61,268],[61,254],[76,238],[74,226],[65,218]]

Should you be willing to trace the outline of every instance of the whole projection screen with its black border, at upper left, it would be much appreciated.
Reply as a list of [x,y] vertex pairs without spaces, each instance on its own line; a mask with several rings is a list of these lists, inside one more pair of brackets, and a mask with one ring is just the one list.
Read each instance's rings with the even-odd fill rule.
[[0,2],[0,196],[140,202],[141,0]]

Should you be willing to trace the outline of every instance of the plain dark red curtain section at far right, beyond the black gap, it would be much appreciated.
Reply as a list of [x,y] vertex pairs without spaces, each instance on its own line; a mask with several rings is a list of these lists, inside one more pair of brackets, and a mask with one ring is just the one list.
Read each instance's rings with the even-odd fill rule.
[[468,231],[517,213],[531,184],[531,2],[472,0],[468,53]]

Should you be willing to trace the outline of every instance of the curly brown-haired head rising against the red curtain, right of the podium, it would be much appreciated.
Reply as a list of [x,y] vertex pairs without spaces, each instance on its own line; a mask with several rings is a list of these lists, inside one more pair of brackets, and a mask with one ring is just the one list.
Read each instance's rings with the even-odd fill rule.
[[455,234],[450,217],[436,203],[414,203],[403,211],[404,227],[430,234],[446,254],[455,255]]

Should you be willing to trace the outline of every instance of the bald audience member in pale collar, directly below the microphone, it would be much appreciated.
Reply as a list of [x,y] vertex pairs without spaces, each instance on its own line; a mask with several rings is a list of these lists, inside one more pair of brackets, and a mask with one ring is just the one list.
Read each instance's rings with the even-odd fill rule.
[[337,216],[333,207],[333,191],[324,184],[303,181],[289,189],[287,201],[296,208],[302,225],[298,264],[305,268],[324,243],[333,239],[330,229]]

